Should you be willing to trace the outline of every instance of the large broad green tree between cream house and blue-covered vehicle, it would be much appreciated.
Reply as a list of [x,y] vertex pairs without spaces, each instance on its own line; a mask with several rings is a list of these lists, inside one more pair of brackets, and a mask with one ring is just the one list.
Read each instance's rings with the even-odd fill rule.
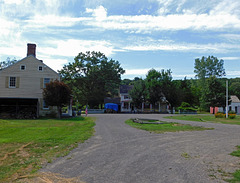
[[79,53],[74,62],[59,71],[72,88],[75,100],[91,108],[103,104],[104,97],[118,94],[124,72],[118,61],[94,51]]

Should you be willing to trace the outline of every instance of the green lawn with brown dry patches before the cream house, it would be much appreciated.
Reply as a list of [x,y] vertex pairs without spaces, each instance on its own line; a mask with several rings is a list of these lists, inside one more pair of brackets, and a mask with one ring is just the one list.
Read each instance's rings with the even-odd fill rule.
[[0,182],[35,173],[94,133],[93,118],[0,119]]

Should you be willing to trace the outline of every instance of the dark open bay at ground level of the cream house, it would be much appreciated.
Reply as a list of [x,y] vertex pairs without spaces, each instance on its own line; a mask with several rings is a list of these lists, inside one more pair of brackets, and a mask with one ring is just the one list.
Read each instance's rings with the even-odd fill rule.
[[0,98],[0,118],[35,119],[38,99]]

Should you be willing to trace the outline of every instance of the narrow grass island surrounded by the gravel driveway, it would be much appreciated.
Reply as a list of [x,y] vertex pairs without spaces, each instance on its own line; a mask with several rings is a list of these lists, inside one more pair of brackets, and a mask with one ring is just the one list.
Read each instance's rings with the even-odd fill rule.
[[213,128],[204,128],[202,126],[191,126],[179,123],[167,123],[164,124],[141,124],[135,123],[131,119],[125,121],[126,124],[138,128],[141,130],[146,130],[154,133],[164,133],[164,132],[178,132],[178,131],[202,131],[202,130],[212,130]]

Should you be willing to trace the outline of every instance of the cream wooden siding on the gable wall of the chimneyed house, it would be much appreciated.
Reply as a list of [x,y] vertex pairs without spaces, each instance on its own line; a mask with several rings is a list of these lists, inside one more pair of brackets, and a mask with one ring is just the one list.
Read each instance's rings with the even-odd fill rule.
[[[20,66],[25,65],[25,70]],[[43,71],[39,71],[43,66]],[[9,88],[9,77],[16,77],[16,88]],[[33,56],[0,71],[0,97],[42,98],[42,78],[60,79],[59,75]]]

